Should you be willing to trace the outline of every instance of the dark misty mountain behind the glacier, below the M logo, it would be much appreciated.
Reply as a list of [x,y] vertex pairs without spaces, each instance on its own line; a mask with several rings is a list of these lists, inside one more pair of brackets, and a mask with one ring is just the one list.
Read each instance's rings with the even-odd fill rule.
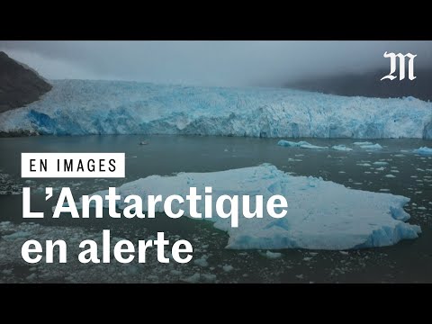
[[324,94],[347,96],[367,96],[378,98],[398,98],[413,96],[424,101],[432,101],[432,68],[416,68],[414,80],[398,78],[380,81],[389,70],[375,70],[364,74],[338,75],[318,78],[305,78],[285,84],[287,87],[316,91]]

